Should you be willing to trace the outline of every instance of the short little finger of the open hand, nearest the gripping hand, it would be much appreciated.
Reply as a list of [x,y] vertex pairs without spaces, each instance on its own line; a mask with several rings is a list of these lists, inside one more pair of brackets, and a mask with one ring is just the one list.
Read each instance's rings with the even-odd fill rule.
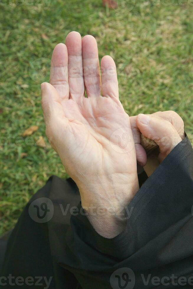
[[112,57],[106,55],[101,60],[102,96],[119,98],[116,65]]

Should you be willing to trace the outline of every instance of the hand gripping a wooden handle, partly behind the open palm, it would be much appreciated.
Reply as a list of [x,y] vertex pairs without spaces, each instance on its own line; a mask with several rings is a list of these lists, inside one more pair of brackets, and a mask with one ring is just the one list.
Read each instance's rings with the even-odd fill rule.
[[[158,111],[148,115],[139,114],[138,116],[131,116],[130,122],[136,143],[138,163],[144,166],[145,172],[149,176],[171,150],[184,139],[184,122],[175,111]],[[159,149],[154,150],[148,157],[141,147],[138,149],[140,134],[158,144]]]

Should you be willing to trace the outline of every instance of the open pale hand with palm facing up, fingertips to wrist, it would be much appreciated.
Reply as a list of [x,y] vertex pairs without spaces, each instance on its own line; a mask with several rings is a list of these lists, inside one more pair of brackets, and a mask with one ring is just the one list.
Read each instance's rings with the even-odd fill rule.
[[[94,37],[69,33],[66,45],[60,43],[53,51],[50,83],[41,86],[42,108],[48,139],[76,182],[89,221],[99,234],[112,238],[126,223],[117,212],[139,190],[137,160],[145,165],[147,157],[140,145],[143,125],[137,118],[130,122],[119,101],[110,56],[102,58],[101,71]],[[105,214],[95,209],[93,215],[93,206],[102,206]]]

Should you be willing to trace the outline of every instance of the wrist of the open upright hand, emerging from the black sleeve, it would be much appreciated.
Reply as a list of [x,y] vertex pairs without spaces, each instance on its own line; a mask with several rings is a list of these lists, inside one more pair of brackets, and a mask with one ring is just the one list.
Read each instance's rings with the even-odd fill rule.
[[79,185],[81,205],[91,225],[98,234],[113,238],[121,233],[129,217],[127,206],[139,190],[137,176],[130,175],[130,182],[119,176],[119,182],[100,177]]

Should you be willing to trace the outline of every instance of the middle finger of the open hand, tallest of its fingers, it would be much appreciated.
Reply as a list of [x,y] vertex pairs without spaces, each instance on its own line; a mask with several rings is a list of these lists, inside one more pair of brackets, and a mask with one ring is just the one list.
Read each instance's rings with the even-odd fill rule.
[[82,40],[80,33],[70,32],[66,37],[68,49],[68,83],[70,98],[79,101],[84,96]]

